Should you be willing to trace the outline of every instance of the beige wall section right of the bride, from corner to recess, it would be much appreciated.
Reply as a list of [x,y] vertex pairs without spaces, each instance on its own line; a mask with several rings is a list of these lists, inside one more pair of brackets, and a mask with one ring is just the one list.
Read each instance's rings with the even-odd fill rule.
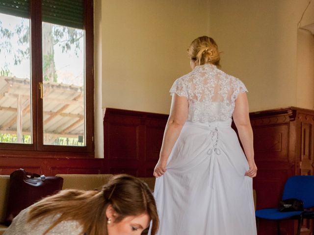
[[[247,86],[250,111],[297,106],[297,24],[308,0],[210,0],[222,69]],[[314,3],[302,25],[314,22]]]

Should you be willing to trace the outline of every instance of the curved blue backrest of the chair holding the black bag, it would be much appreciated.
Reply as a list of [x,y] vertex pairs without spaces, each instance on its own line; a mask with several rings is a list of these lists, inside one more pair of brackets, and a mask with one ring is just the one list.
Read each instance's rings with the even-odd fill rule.
[[304,208],[314,207],[314,176],[299,175],[288,178],[283,193],[283,200],[297,198],[303,201]]

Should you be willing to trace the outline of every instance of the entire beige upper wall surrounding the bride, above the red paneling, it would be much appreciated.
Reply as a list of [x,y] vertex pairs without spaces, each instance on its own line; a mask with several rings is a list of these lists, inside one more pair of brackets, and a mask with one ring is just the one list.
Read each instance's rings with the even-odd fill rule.
[[[168,91],[190,71],[186,48],[201,35],[217,41],[222,69],[246,84],[250,111],[313,108],[313,78],[300,63],[309,37],[297,30],[308,2],[95,0],[96,155],[102,107],[169,113]],[[313,23],[314,2],[299,26]]]

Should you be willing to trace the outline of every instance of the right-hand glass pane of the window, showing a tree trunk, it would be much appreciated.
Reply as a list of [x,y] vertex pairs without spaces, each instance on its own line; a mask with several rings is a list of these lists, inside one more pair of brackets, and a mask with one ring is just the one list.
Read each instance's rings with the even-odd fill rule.
[[84,30],[42,23],[44,144],[85,146]]

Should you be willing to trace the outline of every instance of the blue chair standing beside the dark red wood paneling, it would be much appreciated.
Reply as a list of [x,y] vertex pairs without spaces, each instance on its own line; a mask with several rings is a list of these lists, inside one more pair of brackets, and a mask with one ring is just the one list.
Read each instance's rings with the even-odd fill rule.
[[277,234],[280,235],[279,221],[282,219],[297,219],[298,230],[297,235],[300,235],[301,225],[304,218],[313,219],[313,212],[308,211],[314,208],[314,176],[300,175],[291,176],[288,178],[282,200],[289,198],[297,198],[303,201],[305,211],[289,211],[280,212],[278,208],[268,208],[255,211],[257,224],[259,227],[259,219],[271,219],[277,221]]

